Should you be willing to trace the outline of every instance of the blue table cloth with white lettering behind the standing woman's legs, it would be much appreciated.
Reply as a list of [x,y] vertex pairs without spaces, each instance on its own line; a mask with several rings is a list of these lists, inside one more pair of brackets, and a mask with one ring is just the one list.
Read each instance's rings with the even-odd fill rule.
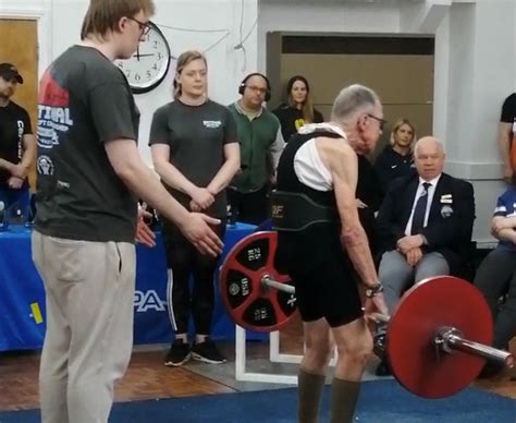
[[[255,226],[228,226],[222,258]],[[167,264],[160,233],[157,246],[137,245],[135,293],[135,343],[170,342],[173,333],[167,309]],[[218,275],[216,275],[218,282]],[[10,226],[0,232],[0,351],[39,349],[45,336],[45,290],[30,256],[30,228]],[[212,338],[231,339],[234,324],[228,317],[218,294]],[[250,334],[249,338],[263,336]]]

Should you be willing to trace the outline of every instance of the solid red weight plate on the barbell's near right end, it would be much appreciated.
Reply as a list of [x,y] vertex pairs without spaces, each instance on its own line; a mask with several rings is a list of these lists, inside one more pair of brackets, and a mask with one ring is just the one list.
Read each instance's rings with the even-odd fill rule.
[[410,288],[391,316],[386,354],[396,379],[423,398],[443,398],[468,386],[480,373],[484,359],[460,351],[438,354],[435,331],[443,326],[463,337],[490,346],[491,312],[480,291],[451,276],[426,279]]

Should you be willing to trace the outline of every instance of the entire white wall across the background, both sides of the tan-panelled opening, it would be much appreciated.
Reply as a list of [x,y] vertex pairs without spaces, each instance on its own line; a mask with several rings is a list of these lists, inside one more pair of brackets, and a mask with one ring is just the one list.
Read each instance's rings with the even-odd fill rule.
[[[38,19],[39,71],[78,40],[87,0],[1,0],[0,16]],[[503,99],[516,88],[516,0],[157,0],[153,21],[174,56],[206,50],[210,96],[229,104],[243,76],[266,69],[270,31],[340,34],[435,35],[433,132],[447,150],[446,170],[475,184],[474,237],[490,242],[489,221],[500,182],[496,125]],[[245,56],[234,47],[242,36]],[[174,27],[174,28],[172,28]],[[177,28],[187,28],[183,32]],[[222,29],[200,33],[194,29]],[[140,152],[153,110],[170,100],[173,64],[165,81],[138,95]]]

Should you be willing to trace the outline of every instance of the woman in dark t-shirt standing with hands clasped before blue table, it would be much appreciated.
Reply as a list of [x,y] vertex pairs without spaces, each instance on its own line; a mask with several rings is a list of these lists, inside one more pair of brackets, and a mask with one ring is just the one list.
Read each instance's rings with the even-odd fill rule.
[[[155,169],[167,189],[188,209],[220,219],[213,229],[223,239],[225,188],[239,169],[239,147],[229,109],[207,96],[207,68],[198,51],[185,51],[177,58],[174,101],[155,112],[149,144]],[[179,366],[191,356],[222,363],[224,356],[209,339],[217,258],[199,254],[167,219],[162,234],[169,269],[167,300],[175,330],[164,364]],[[187,338],[191,313],[196,331],[192,346]]]

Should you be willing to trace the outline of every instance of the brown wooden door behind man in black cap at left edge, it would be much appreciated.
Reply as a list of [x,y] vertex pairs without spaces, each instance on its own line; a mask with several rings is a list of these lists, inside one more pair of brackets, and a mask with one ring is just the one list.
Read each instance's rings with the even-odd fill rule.
[[[33,132],[37,132],[38,101],[38,40],[37,21],[0,20],[0,63],[13,63],[23,76],[13,101],[24,107],[30,116]],[[33,165],[28,176],[30,186],[35,188],[36,171]]]

